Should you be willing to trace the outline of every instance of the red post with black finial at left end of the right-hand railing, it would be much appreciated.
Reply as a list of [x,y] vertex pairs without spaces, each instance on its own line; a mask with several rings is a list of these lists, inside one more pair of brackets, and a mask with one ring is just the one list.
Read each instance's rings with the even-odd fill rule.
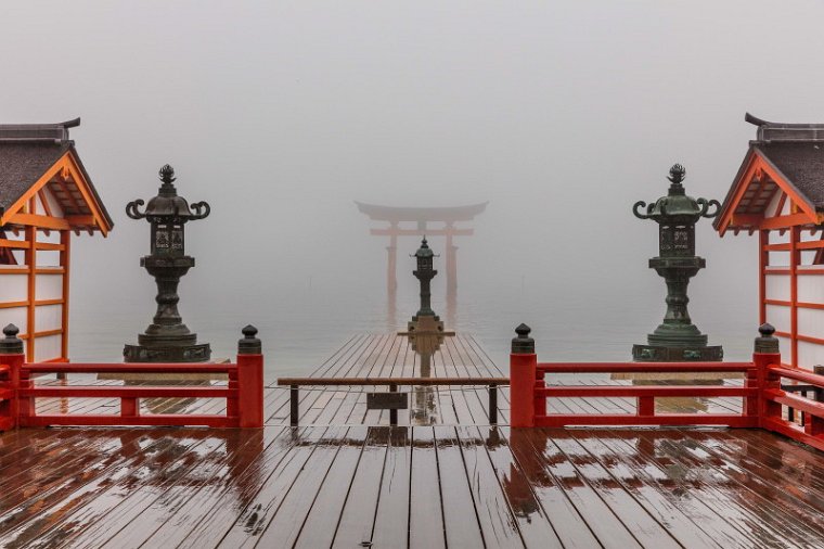
[[510,423],[514,427],[535,426],[536,416],[536,371],[538,357],[532,330],[520,324],[515,329],[517,337],[512,340],[510,355]]

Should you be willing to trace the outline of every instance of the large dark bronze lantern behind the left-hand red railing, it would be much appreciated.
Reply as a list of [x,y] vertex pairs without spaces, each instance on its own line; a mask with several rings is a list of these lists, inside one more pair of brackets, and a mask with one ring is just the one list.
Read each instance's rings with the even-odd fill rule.
[[[126,362],[203,362],[211,357],[208,343],[197,343],[197,334],[189,331],[178,311],[178,284],[194,257],[185,255],[184,228],[189,221],[204,219],[210,208],[206,202],[189,204],[178,196],[175,188],[175,169],[168,164],[159,171],[160,189],[149,201],[144,212],[138,208],[142,200],[130,202],[126,214],[132,219],[146,219],[151,227],[151,253],[140,258],[141,267],[157,283],[157,314],[144,333],[138,335],[138,345],[124,347]],[[194,212],[192,212],[194,210]]]

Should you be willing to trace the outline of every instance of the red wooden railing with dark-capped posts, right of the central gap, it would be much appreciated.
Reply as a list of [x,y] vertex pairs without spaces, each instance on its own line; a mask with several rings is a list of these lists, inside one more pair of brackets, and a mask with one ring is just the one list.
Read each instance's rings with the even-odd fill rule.
[[[782,379],[801,382],[824,394],[824,375],[781,366],[774,329],[759,329],[750,362],[538,362],[529,328],[518,327],[510,356],[512,426],[563,427],[569,425],[728,425],[762,427],[824,450],[824,403],[782,388]],[[707,385],[546,385],[546,376],[559,373],[699,373],[720,378],[744,373],[743,386]],[[652,383],[652,382],[647,382]],[[786,386],[785,386],[786,388]],[[635,398],[634,413],[548,413],[552,398]],[[656,413],[661,397],[742,398],[739,413]],[[785,409],[801,412],[801,424]],[[785,418],[787,416],[787,418]]]

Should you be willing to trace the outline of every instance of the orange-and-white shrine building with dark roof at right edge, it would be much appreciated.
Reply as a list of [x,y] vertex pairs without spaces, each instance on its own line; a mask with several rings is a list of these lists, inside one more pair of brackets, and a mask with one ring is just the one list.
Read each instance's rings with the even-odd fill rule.
[[758,126],[713,226],[758,233],[759,316],[786,365],[824,365],[824,124]]

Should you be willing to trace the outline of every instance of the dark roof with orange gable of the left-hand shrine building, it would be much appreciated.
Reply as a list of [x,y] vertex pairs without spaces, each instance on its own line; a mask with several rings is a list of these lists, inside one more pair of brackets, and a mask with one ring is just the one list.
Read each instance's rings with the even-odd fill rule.
[[80,118],[0,125],[0,226],[25,225],[20,216],[30,215],[28,201],[48,190],[62,210],[54,228],[104,235],[112,230],[112,217],[68,138],[68,129],[79,125]]

